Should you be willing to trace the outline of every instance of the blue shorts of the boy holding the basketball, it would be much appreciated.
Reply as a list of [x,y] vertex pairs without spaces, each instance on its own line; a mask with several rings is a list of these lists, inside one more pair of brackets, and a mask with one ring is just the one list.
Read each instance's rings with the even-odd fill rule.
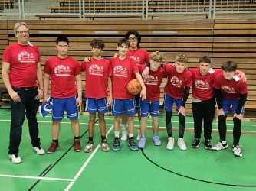
[[112,115],[135,115],[134,99],[113,99]]

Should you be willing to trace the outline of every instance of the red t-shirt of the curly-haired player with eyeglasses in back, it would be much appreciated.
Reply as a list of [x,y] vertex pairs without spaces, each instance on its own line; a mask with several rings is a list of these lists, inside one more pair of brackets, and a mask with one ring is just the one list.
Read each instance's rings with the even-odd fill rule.
[[132,58],[136,64],[143,64],[149,61],[149,53],[141,48],[129,50],[127,56]]

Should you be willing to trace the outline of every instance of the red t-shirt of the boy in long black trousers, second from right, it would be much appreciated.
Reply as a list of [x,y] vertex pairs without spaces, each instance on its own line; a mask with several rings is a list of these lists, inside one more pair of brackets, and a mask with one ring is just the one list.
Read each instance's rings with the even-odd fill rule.
[[190,69],[192,73],[193,85],[192,85],[192,96],[195,99],[202,101],[212,99],[214,96],[213,83],[215,75],[220,73],[222,70],[210,69],[209,73],[202,76],[199,68]]

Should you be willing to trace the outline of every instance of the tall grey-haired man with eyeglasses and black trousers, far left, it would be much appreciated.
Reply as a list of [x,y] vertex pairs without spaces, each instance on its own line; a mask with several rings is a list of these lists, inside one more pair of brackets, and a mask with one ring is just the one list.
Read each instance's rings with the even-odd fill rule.
[[2,79],[11,97],[9,159],[12,163],[21,163],[18,147],[21,143],[25,115],[28,119],[32,147],[37,154],[44,154],[40,146],[36,118],[39,100],[43,98],[43,80],[40,54],[38,48],[28,41],[27,24],[16,23],[14,32],[17,42],[8,46],[2,57]]

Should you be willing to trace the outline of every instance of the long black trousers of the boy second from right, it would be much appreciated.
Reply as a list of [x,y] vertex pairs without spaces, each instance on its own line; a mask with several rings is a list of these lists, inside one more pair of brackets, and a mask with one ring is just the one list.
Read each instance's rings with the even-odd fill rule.
[[201,138],[202,121],[204,121],[205,140],[210,140],[212,138],[212,121],[215,116],[215,99],[192,102],[192,112],[194,118],[194,137]]

